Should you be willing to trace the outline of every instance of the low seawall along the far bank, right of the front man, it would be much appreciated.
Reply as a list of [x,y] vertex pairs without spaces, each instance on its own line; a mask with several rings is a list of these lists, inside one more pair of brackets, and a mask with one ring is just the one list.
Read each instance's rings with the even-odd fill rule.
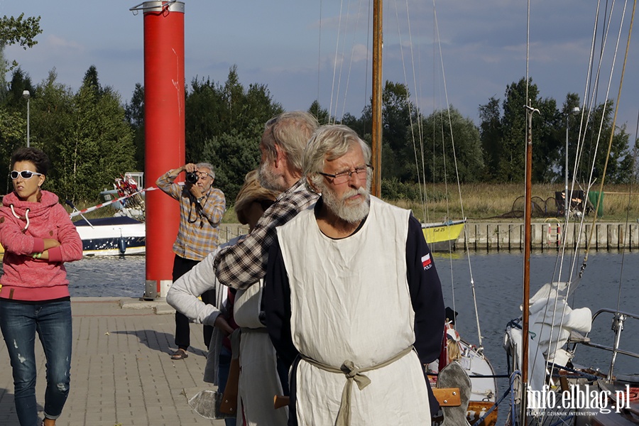
[[[580,236],[580,238],[578,238]],[[639,223],[599,222],[592,224],[563,222],[533,223],[531,248],[557,250],[565,239],[571,249],[586,247],[591,239],[591,249],[618,250],[639,249]],[[457,249],[470,250],[523,250],[524,224],[504,222],[469,222],[457,240]]]

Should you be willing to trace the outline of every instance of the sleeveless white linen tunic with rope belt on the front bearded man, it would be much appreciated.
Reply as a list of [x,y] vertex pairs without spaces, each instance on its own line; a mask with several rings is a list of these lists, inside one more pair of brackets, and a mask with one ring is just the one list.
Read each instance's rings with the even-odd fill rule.
[[[278,228],[290,280],[291,334],[303,356],[333,368],[375,368],[415,342],[407,283],[410,211],[371,197],[364,225],[345,239],[320,231],[312,209]],[[415,351],[363,373],[351,387],[351,425],[430,425],[427,386]],[[334,425],[346,383],[302,361],[295,371],[299,425]]]

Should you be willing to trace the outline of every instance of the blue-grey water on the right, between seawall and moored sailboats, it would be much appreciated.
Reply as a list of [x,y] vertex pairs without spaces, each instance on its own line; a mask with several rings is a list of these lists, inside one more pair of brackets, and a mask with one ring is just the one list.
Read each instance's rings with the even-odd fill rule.
[[[623,258],[623,274],[621,273]],[[577,259],[577,271],[583,262],[581,255]],[[457,329],[467,341],[478,342],[476,317],[472,304],[471,273],[477,298],[479,324],[483,344],[488,359],[495,370],[506,371],[506,355],[502,349],[503,332],[509,320],[520,316],[523,295],[523,253],[471,253],[459,258],[438,257],[437,271],[444,287],[444,300],[459,312]],[[572,259],[564,259],[562,280],[566,280]],[[548,253],[532,253],[530,259],[530,295],[534,295],[542,285],[553,278],[557,256]],[[555,278],[557,280],[557,278]],[[620,292],[621,280],[621,297]],[[577,284],[577,290],[569,298],[572,307],[589,307],[592,313],[608,307],[639,314],[639,253],[596,252],[590,253],[583,277]],[[450,283],[454,282],[454,289]],[[573,278],[573,283],[577,280]],[[454,293],[454,297],[453,297]],[[590,337],[592,342],[613,344],[611,315],[600,315],[593,324]],[[621,349],[639,353],[639,320],[628,319],[622,333]],[[575,361],[579,358],[583,364],[596,366],[607,371],[610,352],[581,347]],[[589,360],[586,362],[585,360]],[[636,360],[635,360],[636,361]],[[618,356],[616,371],[639,373],[639,363],[627,356]]]

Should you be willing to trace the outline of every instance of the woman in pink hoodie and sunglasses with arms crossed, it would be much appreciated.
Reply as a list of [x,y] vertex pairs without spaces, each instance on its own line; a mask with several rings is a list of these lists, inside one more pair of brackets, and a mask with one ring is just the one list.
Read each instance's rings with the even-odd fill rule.
[[36,331],[47,359],[42,425],[55,425],[69,395],[71,300],[63,263],[82,258],[82,240],[58,196],[40,189],[49,166],[49,158],[39,149],[13,153],[13,192],[4,196],[0,207],[0,328],[11,358],[21,426],[38,424]]

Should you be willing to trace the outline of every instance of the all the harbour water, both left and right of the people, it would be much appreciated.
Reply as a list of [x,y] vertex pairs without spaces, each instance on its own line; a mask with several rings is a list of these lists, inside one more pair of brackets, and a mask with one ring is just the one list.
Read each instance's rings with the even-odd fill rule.
[[[621,262],[623,258],[623,274]],[[549,253],[532,253],[530,260],[530,295],[544,283],[552,280],[557,256]],[[564,273],[572,261],[564,260]],[[583,256],[577,261],[581,266]],[[470,263],[470,267],[469,267]],[[481,334],[486,355],[498,373],[506,372],[506,355],[502,349],[503,331],[509,320],[520,315],[522,297],[523,254],[520,252],[501,253],[455,253],[454,258],[435,258],[437,271],[444,288],[447,306],[454,306],[459,312],[457,329],[468,342],[477,344],[476,319],[471,292],[471,273],[474,280]],[[82,261],[67,263],[72,296],[126,296],[140,297],[144,293],[145,257],[127,256],[84,258]],[[589,307],[592,312],[602,307],[615,308],[619,295],[621,278],[622,311],[639,312],[639,253],[594,252],[589,256],[583,278],[577,286],[570,302],[573,307]],[[451,283],[454,282],[454,288]],[[573,280],[573,282],[575,282]],[[454,297],[453,297],[454,294]],[[591,334],[593,342],[611,345],[611,316],[600,317]],[[596,330],[599,327],[599,330]],[[639,352],[639,320],[628,320],[622,334],[622,349]],[[580,348],[578,357],[592,361],[592,365],[607,369],[609,353]],[[589,364],[591,364],[589,362]],[[616,371],[639,373],[626,356],[619,356]]]

